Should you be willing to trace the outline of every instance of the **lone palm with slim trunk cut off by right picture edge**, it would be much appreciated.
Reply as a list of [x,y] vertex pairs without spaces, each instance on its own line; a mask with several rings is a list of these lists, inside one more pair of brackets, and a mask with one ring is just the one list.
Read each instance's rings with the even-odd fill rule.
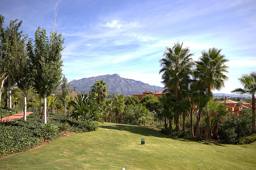
[[255,117],[255,94],[256,94],[256,72],[252,71],[250,74],[242,74],[238,78],[244,88],[237,88],[232,92],[237,94],[252,95],[252,134],[256,133],[256,117]]

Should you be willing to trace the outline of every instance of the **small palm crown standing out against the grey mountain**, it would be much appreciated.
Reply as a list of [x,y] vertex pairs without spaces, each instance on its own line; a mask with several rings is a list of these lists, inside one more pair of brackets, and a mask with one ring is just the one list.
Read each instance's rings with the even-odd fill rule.
[[97,104],[100,103],[100,100],[104,100],[108,97],[108,85],[103,79],[100,81],[96,80],[92,86],[92,92],[96,93]]

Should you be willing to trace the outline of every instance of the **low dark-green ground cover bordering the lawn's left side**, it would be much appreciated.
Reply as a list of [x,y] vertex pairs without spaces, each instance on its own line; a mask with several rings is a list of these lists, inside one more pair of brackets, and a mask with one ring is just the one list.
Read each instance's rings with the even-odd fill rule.
[[[90,120],[76,120],[67,118],[58,113],[49,113],[50,123],[58,127],[58,131],[47,135],[46,139],[53,140],[62,135],[59,128],[63,123],[69,124],[69,131],[88,132],[99,127],[98,122]],[[44,133],[40,129],[42,120],[39,119],[38,111],[27,116],[27,121],[18,119],[12,122],[0,123],[0,157],[5,155],[27,151],[30,148],[42,144]]]

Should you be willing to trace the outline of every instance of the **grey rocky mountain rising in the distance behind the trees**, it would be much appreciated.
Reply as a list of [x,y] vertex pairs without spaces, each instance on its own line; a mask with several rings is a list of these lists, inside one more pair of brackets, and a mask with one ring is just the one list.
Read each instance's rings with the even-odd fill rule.
[[162,87],[149,85],[142,83],[141,81],[136,81],[128,78],[122,78],[118,74],[113,75],[103,75],[90,78],[82,78],[79,80],[72,80],[70,83],[74,84],[76,91],[87,91],[91,90],[91,86],[96,80],[103,79],[108,85],[108,93],[121,93],[121,94],[142,94],[145,90],[150,90],[152,92],[163,91]]

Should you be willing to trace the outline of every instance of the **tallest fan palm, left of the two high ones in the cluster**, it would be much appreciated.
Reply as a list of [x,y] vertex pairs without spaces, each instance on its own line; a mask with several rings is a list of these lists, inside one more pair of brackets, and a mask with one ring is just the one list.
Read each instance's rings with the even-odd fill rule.
[[[187,78],[191,73],[193,67],[192,58],[188,47],[183,48],[183,43],[177,42],[173,48],[167,48],[164,52],[164,58],[160,60],[162,67],[159,74],[162,74],[162,83],[164,84],[164,91],[173,91],[175,98],[179,99],[180,83],[186,84]],[[176,130],[179,127],[179,112],[176,111]]]

